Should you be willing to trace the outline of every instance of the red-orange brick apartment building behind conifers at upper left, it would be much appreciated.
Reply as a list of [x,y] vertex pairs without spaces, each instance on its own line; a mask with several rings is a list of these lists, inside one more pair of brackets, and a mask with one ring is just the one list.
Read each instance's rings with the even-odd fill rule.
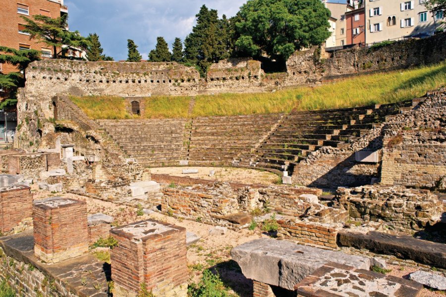
[[[43,58],[51,58],[53,50],[45,44],[30,40],[24,33],[25,21],[21,16],[36,14],[56,18],[68,13],[63,0],[0,0],[0,46],[13,49],[36,49],[42,51]],[[0,64],[0,73],[16,71],[15,67]]]

